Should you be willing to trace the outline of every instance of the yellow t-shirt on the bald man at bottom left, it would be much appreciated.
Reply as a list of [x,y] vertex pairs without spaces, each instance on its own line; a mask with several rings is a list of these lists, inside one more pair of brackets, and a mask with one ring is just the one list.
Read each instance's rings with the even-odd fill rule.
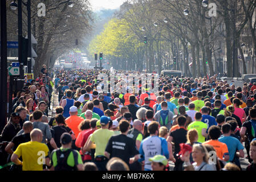
[[14,154],[22,156],[22,171],[43,171],[48,152],[49,149],[44,143],[26,142],[19,144]]

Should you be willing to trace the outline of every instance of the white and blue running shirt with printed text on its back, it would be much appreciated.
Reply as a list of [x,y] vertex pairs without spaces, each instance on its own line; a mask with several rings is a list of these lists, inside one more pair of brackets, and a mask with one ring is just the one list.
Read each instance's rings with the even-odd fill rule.
[[155,155],[164,155],[169,159],[168,144],[164,138],[158,136],[147,137],[142,140],[139,152],[143,156],[139,162],[145,160],[145,171],[152,170],[149,158],[153,158]]

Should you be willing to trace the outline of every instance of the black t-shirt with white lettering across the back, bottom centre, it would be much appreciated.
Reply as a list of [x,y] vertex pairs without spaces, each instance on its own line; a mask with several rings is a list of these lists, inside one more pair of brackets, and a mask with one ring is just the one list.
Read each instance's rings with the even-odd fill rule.
[[120,158],[124,160],[124,162],[128,165],[129,158],[139,154],[139,151],[136,149],[133,139],[123,134],[111,137],[108,140],[105,151],[110,154],[110,158]]

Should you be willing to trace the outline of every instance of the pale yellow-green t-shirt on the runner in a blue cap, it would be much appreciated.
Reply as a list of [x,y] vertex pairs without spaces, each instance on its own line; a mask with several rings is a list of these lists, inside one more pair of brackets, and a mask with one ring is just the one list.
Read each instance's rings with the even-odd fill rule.
[[91,137],[91,141],[96,144],[95,157],[97,155],[104,155],[108,140],[113,135],[114,135],[114,132],[108,129],[99,129],[94,131]]

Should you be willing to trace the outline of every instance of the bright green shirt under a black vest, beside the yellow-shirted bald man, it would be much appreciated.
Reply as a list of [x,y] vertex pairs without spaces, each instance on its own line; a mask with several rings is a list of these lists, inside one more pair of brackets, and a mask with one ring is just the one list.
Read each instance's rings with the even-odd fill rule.
[[[69,148],[63,148],[63,147],[60,147],[60,150],[62,151],[67,151]],[[79,154],[79,152],[77,150],[74,150],[76,152],[76,154],[78,154],[76,157],[78,158],[77,159],[77,162],[78,164],[83,164],[83,160],[82,160],[82,157],[81,155]],[[68,158],[67,158],[67,164],[68,166],[71,166],[71,167],[74,167],[75,166],[75,163],[76,163],[76,160],[74,158],[74,154],[73,152],[70,152],[70,155],[68,155]],[[51,154],[51,164],[52,166],[57,166],[58,164],[58,159],[57,159],[57,155],[56,155],[56,150],[52,151],[52,154]],[[76,165],[78,165],[76,164]]]

